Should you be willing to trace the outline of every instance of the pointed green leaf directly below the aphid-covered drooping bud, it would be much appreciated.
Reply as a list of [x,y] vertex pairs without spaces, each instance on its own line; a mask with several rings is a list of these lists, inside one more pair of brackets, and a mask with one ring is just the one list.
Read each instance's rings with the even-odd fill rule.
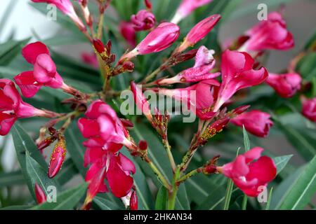
[[44,169],[39,165],[39,163],[29,156],[28,152],[25,154],[25,160],[28,174],[27,182],[31,183],[32,189],[29,190],[31,191],[31,194],[33,195],[35,201],[35,183],[39,184],[41,189],[44,191],[46,197],[48,195],[47,189],[49,186],[53,186],[56,188],[56,190],[58,190],[59,185],[55,181],[55,179],[49,179],[47,175],[47,169],[44,171]]

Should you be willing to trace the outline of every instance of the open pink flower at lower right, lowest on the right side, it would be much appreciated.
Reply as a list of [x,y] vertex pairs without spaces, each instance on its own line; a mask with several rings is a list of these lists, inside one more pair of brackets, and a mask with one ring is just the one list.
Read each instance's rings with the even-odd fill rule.
[[256,197],[277,175],[275,162],[268,156],[261,156],[262,152],[263,148],[252,148],[243,155],[238,155],[233,162],[217,169],[232,179],[247,196]]

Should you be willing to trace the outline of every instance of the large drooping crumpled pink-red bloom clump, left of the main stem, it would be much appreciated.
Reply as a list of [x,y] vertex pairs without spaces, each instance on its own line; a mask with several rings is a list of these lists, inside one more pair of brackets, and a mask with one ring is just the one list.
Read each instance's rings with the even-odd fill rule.
[[101,100],[93,102],[85,115],[87,118],[78,121],[79,130],[88,138],[84,142],[84,165],[92,164],[86,173],[89,186],[85,204],[97,193],[107,191],[104,179],[115,196],[124,197],[131,191],[133,179],[130,174],[136,170],[133,162],[117,151],[123,145],[131,146],[127,139],[129,134],[115,111]]

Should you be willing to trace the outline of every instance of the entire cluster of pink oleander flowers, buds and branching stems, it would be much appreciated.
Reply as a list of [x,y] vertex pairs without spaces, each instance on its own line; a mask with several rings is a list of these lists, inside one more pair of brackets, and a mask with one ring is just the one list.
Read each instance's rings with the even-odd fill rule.
[[[60,69],[54,62],[49,45],[41,41],[28,43],[21,54],[32,69],[22,71],[13,80],[0,79],[0,134],[8,134],[16,120],[36,116],[47,118],[39,130],[36,144],[41,153],[48,151],[48,146],[53,146],[47,173],[50,179],[55,179],[62,170],[67,154],[65,132],[71,123],[77,123],[77,129],[85,139],[82,143],[85,148],[82,167],[87,167],[84,181],[88,184],[81,209],[90,209],[97,194],[111,193],[124,202],[126,209],[137,210],[140,189],[134,178],[139,172],[135,161],[143,163],[147,167],[145,169],[151,169],[167,190],[167,209],[175,209],[179,186],[194,175],[225,176],[247,197],[257,197],[261,187],[268,186],[275,179],[275,161],[268,155],[262,155],[264,149],[259,146],[239,153],[227,163],[215,157],[204,158],[206,162],[202,167],[192,168],[190,165],[195,153],[205,144],[211,144],[211,139],[220,136],[223,130],[230,132],[244,128],[256,137],[268,137],[275,123],[271,111],[253,107],[251,102],[244,104],[239,101],[244,94],[249,94],[249,89],[268,85],[268,89],[271,87],[279,97],[291,98],[303,88],[304,80],[295,69],[289,67],[288,71],[277,73],[268,71],[263,64],[263,55],[269,50],[294,47],[294,36],[282,13],[269,13],[267,20],[242,31],[241,36],[236,36],[235,41],[230,41],[218,51],[209,49],[208,43],[202,44],[202,41],[218,27],[221,15],[209,15],[188,31],[180,29],[178,25],[197,8],[208,6],[211,0],[181,1],[170,22],[157,20],[154,6],[146,0],[143,8],[131,15],[130,20],[121,21],[116,27],[127,49],[118,55],[112,48],[113,41],[117,40],[103,36],[103,20],[96,25],[97,20],[90,13],[91,3],[87,0],[75,3],[70,0],[32,1],[55,4],[86,36],[93,53],[84,52],[82,59],[86,64],[100,69],[103,85],[100,85],[98,92],[77,90],[71,82],[67,84],[65,76],[58,72]],[[110,0],[96,1],[100,17],[109,10],[110,3]],[[78,7],[81,13],[78,13]],[[93,26],[100,30],[95,31]],[[140,41],[136,38],[138,34],[143,34]],[[182,39],[180,36],[185,37]],[[149,54],[155,57],[167,50],[169,55],[156,70],[143,71],[148,73],[143,80],[133,76],[133,71],[139,66],[138,58]],[[170,72],[177,71],[173,68],[180,64],[185,69]],[[173,181],[154,161],[150,153],[152,142],[148,139],[136,140],[130,133],[133,132],[136,118],[124,116],[117,110],[114,99],[117,92],[112,89],[111,80],[115,76],[123,76],[122,73],[130,73],[131,84],[127,90],[131,90],[133,102],[145,116],[144,123],[152,126],[165,147],[169,159],[165,162],[171,165]],[[69,106],[71,111],[60,113],[37,109],[24,102],[25,98],[35,99],[38,92],[47,88],[68,94],[69,98],[62,103]],[[190,127],[196,129],[195,135],[191,137],[190,146],[180,160],[169,144],[168,126],[173,116],[157,105],[152,106],[144,94],[147,90],[183,102],[197,116],[197,125],[192,123]],[[315,123],[316,99],[300,95],[301,114]],[[38,204],[46,202],[47,195],[42,188],[39,183],[34,184]]]

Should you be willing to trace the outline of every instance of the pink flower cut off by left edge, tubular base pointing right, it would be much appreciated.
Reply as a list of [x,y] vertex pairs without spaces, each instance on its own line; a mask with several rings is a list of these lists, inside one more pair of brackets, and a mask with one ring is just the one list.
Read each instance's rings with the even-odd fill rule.
[[55,115],[53,112],[42,111],[23,102],[14,83],[6,78],[0,79],[0,135],[8,134],[18,118],[53,118]]

